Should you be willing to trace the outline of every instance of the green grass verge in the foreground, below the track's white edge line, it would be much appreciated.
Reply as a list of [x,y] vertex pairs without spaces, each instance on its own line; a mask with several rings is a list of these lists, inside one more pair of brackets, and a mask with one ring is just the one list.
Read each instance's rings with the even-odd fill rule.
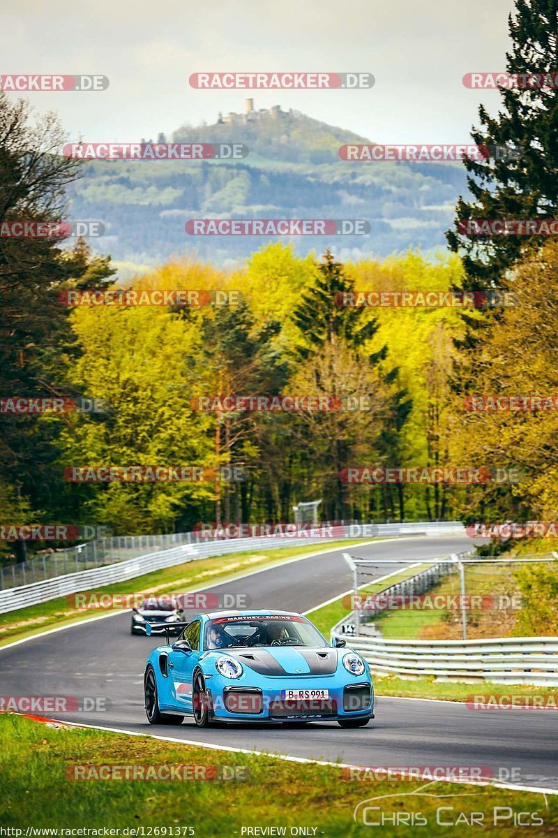
[[[162,731],[172,735],[165,728]],[[358,735],[373,742],[374,730],[367,727]],[[260,830],[251,835],[265,835],[261,828],[267,826],[285,830],[267,832],[271,835],[297,835],[291,829],[305,827],[303,835],[341,838],[370,835],[371,822],[381,820],[385,821],[381,834],[387,838],[401,835],[406,825],[413,826],[413,835],[468,835],[474,825],[482,825],[483,835],[516,835],[514,820],[520,812],[524,824],[529,824],[529,835],[558,830],[558,798],[550,795],[447,782],[427,788],[424,781],[416,780],[351,782],[346,771],[333,766],[49,727],[13,714],[0,715],[0,737],[0,822],[23,830],[20,835],[28,827],[81,827],[103,835],[106,827],[128,829],[120,835],[242,838],[256,826]],[[165,770],[161,766],[198,766],[202,767],[197,768],[198,777],[203,772],[217,779],[88,782],[71,779],[76,765],[86,766],[79,769],[81,776],[90,777],[99,776],[101,765],[128,766],[128,770],[153,766],[151,770],[161,773]],[[218,779],[223,773],[239,779]],[[418,789],[423,789],[422,796],[417,796]],[[375,799],[369,805],[378,808],[366,810],[369,824],[363,825],[364,806],[355,822],[355,807],[371,798]],[[394,824],[394,818],[403,819],[402,823]]]

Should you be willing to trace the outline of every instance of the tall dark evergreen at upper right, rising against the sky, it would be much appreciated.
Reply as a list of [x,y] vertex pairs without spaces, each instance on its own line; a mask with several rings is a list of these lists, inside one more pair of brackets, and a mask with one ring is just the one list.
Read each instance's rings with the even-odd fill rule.
[[512,47],[506,54],[510,75],[550,74],[550,86],[501,87],[502,110],[489,116],[479,108],[480,126],[471,136],[477,145],[495,147],[484,161],[465,159],[472,200],[459,198],[455,230],[447,233],[451,249],[463,258],[465,287],[499,286],[504,272],[522,251],[542,238],[499,235],[469,238],[459,222],[469,219],[553,218],[558,211],[558,0],[516,0],[509,16]]

